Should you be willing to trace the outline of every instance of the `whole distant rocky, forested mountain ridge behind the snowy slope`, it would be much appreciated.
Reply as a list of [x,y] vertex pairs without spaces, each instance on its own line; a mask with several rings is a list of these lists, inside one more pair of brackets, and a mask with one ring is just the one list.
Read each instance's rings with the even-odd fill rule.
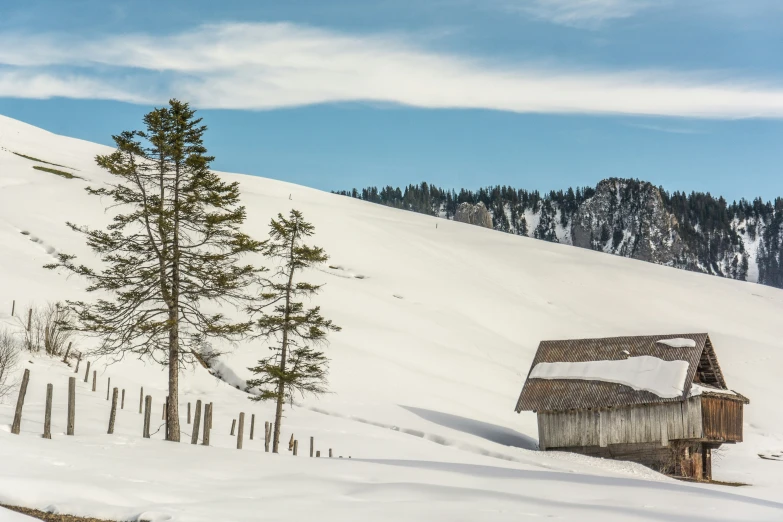
[[[344,195],[480,224],[545,241],[783,288],[783,199],[764,203],[703,193],[669,194],[635,179],[538,192],[489,187],[404,191],[374,187]],[[475,216],[481,216],[477,219]]]

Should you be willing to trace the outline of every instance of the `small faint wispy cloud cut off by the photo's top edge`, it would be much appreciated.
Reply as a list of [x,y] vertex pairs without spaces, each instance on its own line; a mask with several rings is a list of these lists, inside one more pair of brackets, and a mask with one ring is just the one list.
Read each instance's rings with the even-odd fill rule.
[[634,16],[652,4],[649,0],[505,0],[504,5],[556,24],[595,27]]

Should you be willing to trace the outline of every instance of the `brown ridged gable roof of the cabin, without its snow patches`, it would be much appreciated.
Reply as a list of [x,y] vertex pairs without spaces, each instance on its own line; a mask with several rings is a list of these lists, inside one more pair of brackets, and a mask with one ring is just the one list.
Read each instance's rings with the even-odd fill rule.
[[[680,343],[682,346],[670,346],[658,342],[666,339],[690,339],[695,345]],[[685,361],[688,368],[682,383],[682,395],[661,397],[650,391],[603,380],[530,377],[539,363],[621,361],[641,356],[656,357],[663,361]],[[715,350],[706,333],[541,341],[517,401],[516,411],[563,411],[682,401],[688,397],[694,381],[719,390],[727,389]]]

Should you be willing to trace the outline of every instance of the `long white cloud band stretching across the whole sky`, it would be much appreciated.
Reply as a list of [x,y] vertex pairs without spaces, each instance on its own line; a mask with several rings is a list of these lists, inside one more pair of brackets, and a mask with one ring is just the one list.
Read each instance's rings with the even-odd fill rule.
[[783,117],[780,85],[714,73],[487,64],[428,51],[404,35],[348,35],[291,24],[220,24],[169,36],[92,40],[5,35],[0,64],[6,64],[0,91],[19,97],[33,96],[19,80],[25,74],[36,82],[36,96],[155,103],[177,96],[202,108],[371,101],[514,112]]

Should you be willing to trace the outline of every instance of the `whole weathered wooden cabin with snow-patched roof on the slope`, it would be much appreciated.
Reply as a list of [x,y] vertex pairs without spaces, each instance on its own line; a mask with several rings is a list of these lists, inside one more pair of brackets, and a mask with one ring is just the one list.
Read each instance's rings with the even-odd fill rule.
[[539,448],[712,479],[712,450],[742,442],[747,398],[726,386],[707,334],[542,341],[516,411]]

